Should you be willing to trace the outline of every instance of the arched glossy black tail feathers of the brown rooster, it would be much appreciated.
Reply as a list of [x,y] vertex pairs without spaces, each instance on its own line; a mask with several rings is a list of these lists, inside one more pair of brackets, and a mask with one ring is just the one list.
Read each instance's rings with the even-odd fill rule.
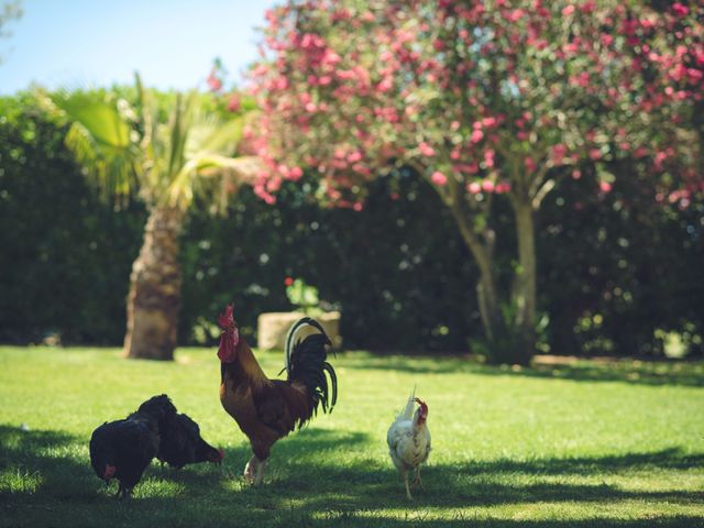
[[[314,327],[320,333],[307,336],[302,341],[295,341],[296,333],[305,326]],[[330,345],[332,345],[330,338],[320,323],[309,317],[295,322],[286,336],[288,381],[301,382],[306,385],[314,415],[318,411],[318,404],[322,405],[323,413],[330,413],[338,402],[338,376],[327,361],[327,346]],[[328,385],[328,376],[330,376],[330,385]]]

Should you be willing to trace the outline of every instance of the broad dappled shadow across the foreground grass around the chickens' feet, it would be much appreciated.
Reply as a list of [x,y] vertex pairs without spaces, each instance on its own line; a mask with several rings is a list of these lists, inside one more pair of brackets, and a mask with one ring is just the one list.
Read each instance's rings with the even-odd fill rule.
[[[595,503],[624,501],[691,506],[702,494],[678,490],[624,490],[604,483],[554,482],[556,477],[603,477],[627,471],[686,471],[701,468],[704,453],[668,449],[596,458],[544,459],[430,465],[424,470],[426,491],[408,503],[403,483],[385,461],[365,458],[371,439],[361,432],[306,429],[283,440],[273,451],[264,486],[243,485],[240,471],[249,449],[228,450],[223,472],[210,466],[182,471],[152,466],[133,499],[120,502],[101,487],[87,460],[86,439],[54,431],[22,431],[0,426],[0,472],[26,469],[36,485],[0,493],[0,526],[564,526],[564,521],[516,521],[486,518],[512,515],[486,506],[570,503],[598,514]],[[359,452],[338,462],[336,452]],[[82,458],[85,457],[85,460]],[[352,460],[352,462],[349,462]],[[22,471],[22,470],[21,470]],[[232,476],[233,474],[238,476]],[[601,479],[592,479],[597,481]],[[448,519],[428,517],[433,515]],[[477,508],[479,517],[468,517]],[[637,508],[637,507],[636,507]],[[407,512],[399,517],[389,509]],[[638,510],[636,509],[636,513]],[[572,510],[574,514],[574,512]],[[585,514],[587,516],[588,514]],[[656,514],[653,514],[656,515]],[[569,526],[702,526],[704,517],[663,516],[620,520],[587,518]]]

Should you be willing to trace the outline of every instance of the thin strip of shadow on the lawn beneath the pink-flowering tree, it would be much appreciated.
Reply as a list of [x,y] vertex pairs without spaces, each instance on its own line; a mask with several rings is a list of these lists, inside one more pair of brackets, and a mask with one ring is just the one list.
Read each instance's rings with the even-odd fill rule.
[[355,359],[349,355],[349,369],[408,372],[415,374],[477,374],[524,376],[576,382],[624,382],[642,385],[682,385],[704,387],[704,362],[640,360],[574,360],[531,367],[491,366],[469,356],[384,355]]

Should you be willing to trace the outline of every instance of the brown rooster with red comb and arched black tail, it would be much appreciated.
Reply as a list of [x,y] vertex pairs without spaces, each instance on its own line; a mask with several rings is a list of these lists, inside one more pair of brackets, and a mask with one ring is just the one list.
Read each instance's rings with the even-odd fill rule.
[[[222,330],[218,350],[220,403],[252,446],[253,457],[244,469],[244,477],[250,484],[261,484],[274,443],[296,427],[300,429],[319,406],[323,413],[330,413],[337,403],[338,381],[327,361],[330,339],[314,319],[305,317],[295,322],[286,336],[287,378],[270,380],[240,336],[232,306],[220,315],[218,323]],[[310,328],[316,333],[295,341],[299,331]]]

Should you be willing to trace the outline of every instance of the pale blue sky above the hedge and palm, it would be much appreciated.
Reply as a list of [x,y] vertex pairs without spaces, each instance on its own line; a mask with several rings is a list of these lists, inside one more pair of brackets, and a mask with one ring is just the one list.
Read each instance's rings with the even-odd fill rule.
[[[4,2],[0,1],[0,4]],[[0,40],[0,95],[131,84],[204,87],[215,57],[229,79],[257,58],[264,11],[274,0],[24,0]]]

